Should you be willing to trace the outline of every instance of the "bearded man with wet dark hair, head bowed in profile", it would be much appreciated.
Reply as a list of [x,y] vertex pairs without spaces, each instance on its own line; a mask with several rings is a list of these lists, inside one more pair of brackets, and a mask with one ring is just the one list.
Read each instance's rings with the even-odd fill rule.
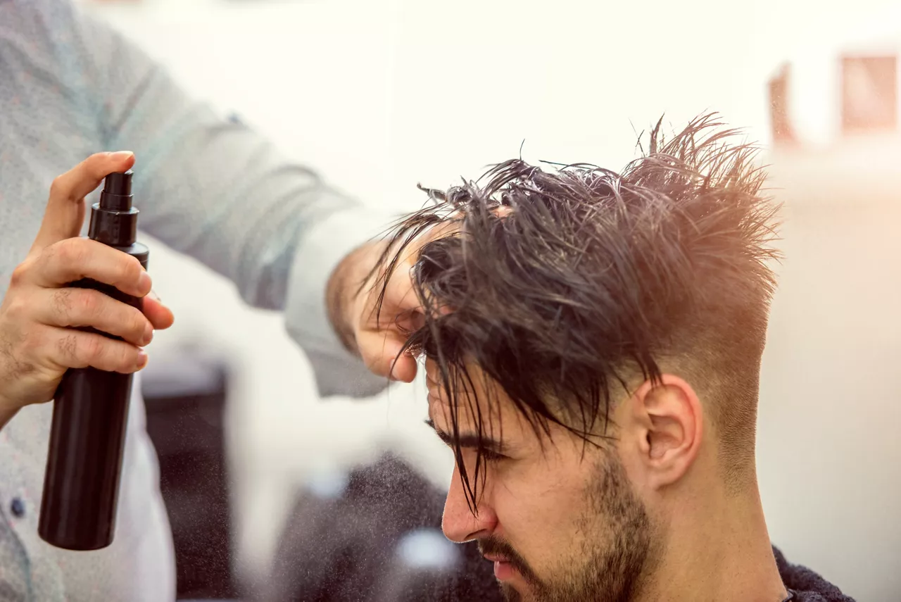
[[619,174],[508,161],[390,240],[381,284],[414,269],[407,349],[456,458],[443,531],[478,541],[507,599],[849,599],[769,543],[776,208],[717,126],[658,124]]

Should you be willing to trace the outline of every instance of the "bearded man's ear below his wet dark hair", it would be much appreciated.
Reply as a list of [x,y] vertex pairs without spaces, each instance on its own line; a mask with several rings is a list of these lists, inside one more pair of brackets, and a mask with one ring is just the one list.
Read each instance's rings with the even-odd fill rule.
[[652,489],[681,479],[701,447],[704,414],[695,389],[671,374],[646,381],[630,400],[636,443],[645,480]]

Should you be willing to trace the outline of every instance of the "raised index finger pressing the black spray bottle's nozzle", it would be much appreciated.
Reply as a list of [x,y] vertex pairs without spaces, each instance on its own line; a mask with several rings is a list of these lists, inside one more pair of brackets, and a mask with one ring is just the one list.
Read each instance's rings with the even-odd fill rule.
[[103,178],[117,171],[127,171],[134,165],[134,154],[129,151],[101,152],[91,155],[75,168],[53,180],[50,198],[41,223],[41,230],[34,241],[32,251],[40,250],[81,232],[85,218],[84,198]]

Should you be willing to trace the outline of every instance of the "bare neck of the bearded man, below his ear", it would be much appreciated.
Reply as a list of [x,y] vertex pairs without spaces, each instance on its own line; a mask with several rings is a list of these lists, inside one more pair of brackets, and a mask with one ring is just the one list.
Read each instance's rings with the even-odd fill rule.
[[683,500],[655,560],[635,602],[781,602],[787,597],[756,481],[742,494],[721,491],[705,501]]

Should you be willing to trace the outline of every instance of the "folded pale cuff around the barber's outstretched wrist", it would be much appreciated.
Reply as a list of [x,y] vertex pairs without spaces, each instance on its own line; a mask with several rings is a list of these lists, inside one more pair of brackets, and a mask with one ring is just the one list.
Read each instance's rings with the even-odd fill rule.
[[387,231],[396,215],[366,207],[341,209],[302,234],[288,277],[287,332],[305,351],[321,397],[368,397],[387,379],[344,348],[332,327],[325,292],[332,272],[350,252]]

